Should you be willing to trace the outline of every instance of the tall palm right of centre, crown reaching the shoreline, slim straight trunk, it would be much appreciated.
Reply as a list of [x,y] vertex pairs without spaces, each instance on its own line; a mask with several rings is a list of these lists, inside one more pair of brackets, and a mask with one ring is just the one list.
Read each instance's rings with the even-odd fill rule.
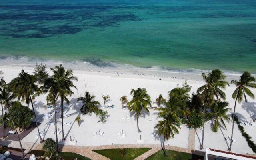
[[221,89],[225,89],[227,85],[229,86],[228,82],[225,81],[226,76],[224,76],[223,72],[218,69],[214,69],[208,74],[202,73],[202,78],[206,84],[197,89],[197,94],[202,98],[202,102],[204,102],[202,143],[200,150],[203,149],[204,145],[204,122],[206,106],[210,107],[214,103],[215,97],[216,99],[221,98],[225,100],[226,95]]

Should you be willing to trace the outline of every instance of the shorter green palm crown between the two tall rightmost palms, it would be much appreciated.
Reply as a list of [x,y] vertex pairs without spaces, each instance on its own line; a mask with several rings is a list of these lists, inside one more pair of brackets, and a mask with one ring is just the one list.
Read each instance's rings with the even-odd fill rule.
[[227,122],[230,121],[227,112],[231,110],[231,108],[226,108],[227,106],[228,102],[222,102],[221,100],[217,100],[216,103],[214,104],[212,112],[206,114],[206,117],[209,117],[210,119],[215,119],[213,124],[214,132],[218,131],[218,128],[221,126],[221,124],[225,129],[227,129],[224,120],[226,120]]

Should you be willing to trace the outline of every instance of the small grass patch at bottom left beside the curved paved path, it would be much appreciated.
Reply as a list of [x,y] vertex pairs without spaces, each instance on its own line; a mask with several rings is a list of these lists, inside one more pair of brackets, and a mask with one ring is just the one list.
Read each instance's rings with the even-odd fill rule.
[[77,160],[90,160],[85,156],[71,152],[59,152],[58,156],[54,156],[50,160],[75,160],[76,158]]

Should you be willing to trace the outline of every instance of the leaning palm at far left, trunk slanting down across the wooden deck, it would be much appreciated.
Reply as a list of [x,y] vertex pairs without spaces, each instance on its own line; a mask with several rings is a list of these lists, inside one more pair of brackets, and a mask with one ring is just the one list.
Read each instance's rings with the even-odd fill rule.
[[10,112],[10,107],[12,106],[12,104],[14,104],[15,102],[13,101],[16,98],[16,94],[12,93],[10,88],[8,86],[4,86],[3,88],[0,89],[1,90],[1,99],[2,99],[2,103],[4,104],[4,106],[7,108],[8,112],[10,113],[10,119],[12,121],[12,125],[14,127],[14,130],[16,132],[16,135],[18,137],[19,143],[20,143],[20,148],[21,148],[21,153],[22,153],[22,157],[24,157],[24,152],[23,152],[23,148],[22,148],[22,144],[20,141],[20,136],[17,132],[17,128],[14,124],[13,118],[12,118],[12,114]]

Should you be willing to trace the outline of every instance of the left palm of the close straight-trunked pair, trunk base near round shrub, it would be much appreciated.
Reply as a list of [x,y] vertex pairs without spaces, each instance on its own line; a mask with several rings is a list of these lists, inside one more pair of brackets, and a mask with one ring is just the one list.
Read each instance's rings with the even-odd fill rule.
[[58,80],[54,77],[47,78],[44,81],[44,86],[42,86],[42,90],[38,92],[38,94],[41,93],[47,93],[46,101],[47,104],[52,103],[54,107],[54,119],[55,119],[55,135],[56,135],[56,155],[58,155],[58,134],[57,134],[57,115],[56,115],[56,100],[58,98],[59,92],[64,92],[63,88],[60,88],[60,85],[58,84]]

